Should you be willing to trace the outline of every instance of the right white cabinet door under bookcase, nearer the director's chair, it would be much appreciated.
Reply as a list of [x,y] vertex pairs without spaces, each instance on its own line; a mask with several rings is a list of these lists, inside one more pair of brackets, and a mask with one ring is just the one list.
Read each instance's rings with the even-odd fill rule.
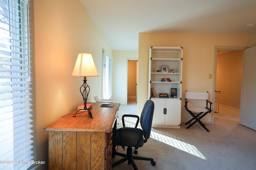
[[180,125],[181,100],[169,99],[165,103],[165,125]]

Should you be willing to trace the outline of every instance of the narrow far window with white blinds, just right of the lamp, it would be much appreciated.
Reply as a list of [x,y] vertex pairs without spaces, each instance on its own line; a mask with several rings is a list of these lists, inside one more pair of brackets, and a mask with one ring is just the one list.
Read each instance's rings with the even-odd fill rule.
[[102,99],[112,97],[112,58],[103,50]]

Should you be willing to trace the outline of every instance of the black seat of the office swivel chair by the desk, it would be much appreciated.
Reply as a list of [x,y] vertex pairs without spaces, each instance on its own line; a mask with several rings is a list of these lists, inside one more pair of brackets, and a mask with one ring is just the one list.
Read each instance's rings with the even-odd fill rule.
[[133,127],[122,127],[120,129],[120,142],[123,149],[124,147],[135,147],[135,149],[138,149],[141,145],[142,137],[142,129]]

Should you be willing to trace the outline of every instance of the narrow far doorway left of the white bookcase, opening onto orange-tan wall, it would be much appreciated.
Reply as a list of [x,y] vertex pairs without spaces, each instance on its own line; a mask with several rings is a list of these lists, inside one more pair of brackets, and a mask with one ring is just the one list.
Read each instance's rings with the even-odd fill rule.
[[127,104],[137,104],[138,60],[128,59]]

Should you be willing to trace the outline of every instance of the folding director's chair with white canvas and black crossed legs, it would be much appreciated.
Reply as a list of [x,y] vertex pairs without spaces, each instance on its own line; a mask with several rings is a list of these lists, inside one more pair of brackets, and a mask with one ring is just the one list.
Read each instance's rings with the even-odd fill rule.
[[[198,106],[200,104],[200,101],[206,100],[206,106]],[[188,104],[188,101],[190,101],[191,104]],[[210,104],[210,107],[208,107],[208,104]],[[209,130],[205,127],[204,123],[200,121],[207,113],[211,113],[212,108],[212,102],[208,100],[208,92],[187,92],[186,91],[186,97],[185,97],[185,108],[190,115],[192,115],[192,119],[190,119],[185,125],[189,123],[189,126],[186,127],[186,129],[190,128],[192,125],[194,125],[196,122],[198,122],[206,131],[209,132]],[[194,121],[193,121],[194,120]],[[193,122],[192,122],[193,121]],[[191,123],[192,122],[192,123]]]

